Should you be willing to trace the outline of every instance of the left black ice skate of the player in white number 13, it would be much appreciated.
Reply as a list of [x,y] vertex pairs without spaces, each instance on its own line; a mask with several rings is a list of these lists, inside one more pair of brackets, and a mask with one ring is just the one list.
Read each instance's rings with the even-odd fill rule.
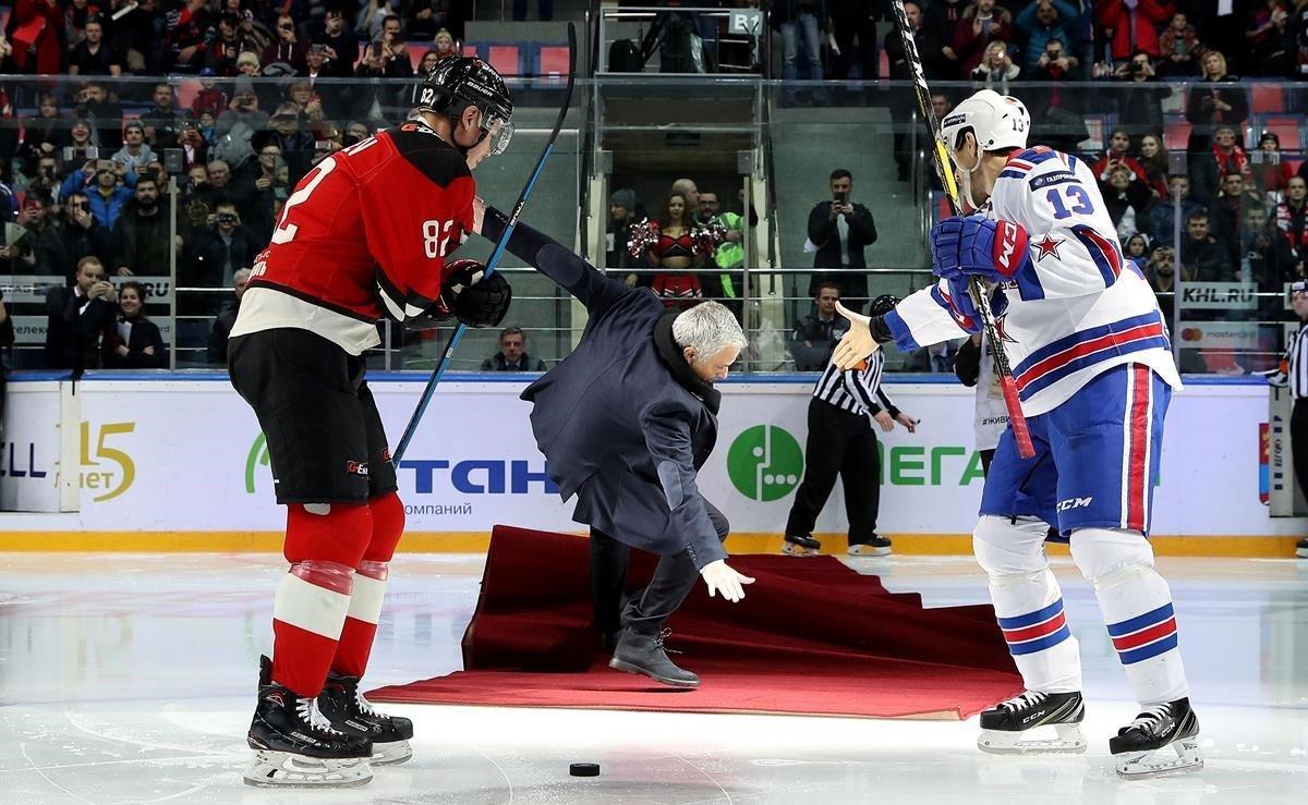
[[[1086,704],[1080,693],[1028,690],[981,714],[977,748],[990,754],[1080,754],[1086,736],[1080,721]],[[1057,738],[1028,738],[1036,727],[1053,727]],[[1027,740],[1024,740],[1027,738]]]

